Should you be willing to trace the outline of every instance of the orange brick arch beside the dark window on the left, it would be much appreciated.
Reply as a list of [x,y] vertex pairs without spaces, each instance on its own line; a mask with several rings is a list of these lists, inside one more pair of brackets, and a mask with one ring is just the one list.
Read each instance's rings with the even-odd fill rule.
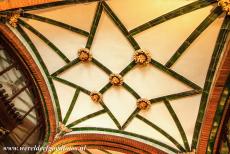
[[55,118],[52,99],[48,87],[46,85],[46,82],[42,76],[42,73],[40,72],[37,64],[33,60],[32,56],[29,54],[26,47],[22,44],[22,42],[6,25],[1,23],[0,23],[0,33],[4,35],[7,38],[7,40],[17,50],[17,53],[19,54],[20,58],[23,59],[23,62],[25,63],[27,69],[33,76],[37,90],[43,96],[44,101],[42,101],[43,102],[42,109],[44,113],[47,113],[45,114],[45,118],[48,117],[48,119],[45,119],[45,121],[46,121],[46,126],[49,126],[49,128],[46,127],[47,130],[45,135],[48,135],[47,136],[48,142],[52,142],[54,139],[54,135],[56,133],[56,118]]

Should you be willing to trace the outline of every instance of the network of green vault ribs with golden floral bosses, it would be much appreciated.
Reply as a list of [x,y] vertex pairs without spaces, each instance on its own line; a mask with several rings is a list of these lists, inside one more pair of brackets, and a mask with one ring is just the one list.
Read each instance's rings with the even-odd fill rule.
[[[63,125],[63,127],[66,125],[65,126],[66,129],[71,129],[72,131],[75,131],[75,132],[79,132],[79,131],[84,132],[84,131],[94,130],[98,132],[103,131],[103,132],[111,132],[114,134],[124,134],[127,136],[140,138],[140,139],[149,141],[151,143],[157,144],[174,153],[190,152],[190,151],[193,151],[194,149],[197,149],[199,135],[201,133],[201,126],[202,126],[202,122],[204,119],[203,117],[205,115],[205,110],[207,107],[209,95],[211,94],[211,86],[214,82],[213,80],[215,77],[215,72],[217,70],[218,63],[221,59],[221,55],[224,52],[226,41],[228,40],[228,37],[229,37],[230,16],[225,15],[224,17],[224,21],[221,25],[221,28],[220,28],[220,31],[219,31],[219,34],[216,40],[216,44],[213,50],[211,62],[208,68],[208,73],[205,79],[205,84],[204,84],[204,87],[202,87],[199,84],[196,84],[194,81],[188,79],[187,77],[177,73],[177,71],[172,69],[172,67],[177,61],[179,61],[179,59],[183,58],[184,53],[186,53],[187,49],[195,42],[195,40],[197,40],[198,37],[214,21],[216,21],[221,15],[223,15],[224,10],[220,6],[213,5],[214,3],[217,3],[216,0],[197,0],[183,7],[170,11],[166,14],[163,14],[131,30],[128,30],[126,25],[122,22],[122,20],[114,12],[113,8],[110,7],[109,3],[106,1],[95,2],[97,3],[97,7],[95,10],[94,18],[93,18],[92,25],[89,31],[83,30],[76,26],[72,26],[67,23],[55,20],[55,19],[43,17],[40,15],[36,15],[31,12],[28,12],[28,11],[41,10],[41,9],[51,8],[51,7],[56,7],[56,6],[73,5],[73,4],[79,4],[79,3],[90,3],[94,1],[96,0],[58,1],[58,2],[45,3],[45,4],[34,5],[34,6],[20,7],[21,12],[19,12],[19,16],[17,17],[14,17],[13,15],[15,12],[18,12],[18,9],[7,9],[5,11],[0,11],[0,18],[1,18],[0,21],[2,21],[4,24],[11,25],[12,28],[15,28],[15,30],[23,37],[26,43],[30,46],[30,48],[33,51],[33,54],[38,59],[39,64],[41,65],[41,68],[43,69],[45,73],[45,76],[48,80],[48,84],[53,94],[53,98],[55,101],[54,103],[55,103],[56,111],[57,111],[57,117],[58,117],[57,121],[62,122],[63,124],[62,123],[61,124]],[[150,54],[148,54],[148,51],[145,51],[144,49],[142,49],[141,45],[138,43],[135,37],[135,35],[141,32],[147,31],[150,28],[154,28],[154,26],[160,25],[173,18],[185,15],[187,13],[196,11],[198,9],[205,8],[209,5],[213,5],[214,9],[212,9],[210,14],[190,33],[190,35],[186,38],[186,40],[182,42],[179,48],[174,52],[174,54],[169,58],[169,60],[165,64],[162,64],[161,62],[157,61],[154,56],[150,56]],[[0,7],[0,10],[1,10],[1,7]],[[129,44],[131,45],[135,53],[133,58],[128,62],[128,65],[126,65],[122,69],[122,71],[120,71],[120,73],[118,74],[116,74],[111,69],[109,69],[105,64],[103,64],[103,62],[99,61],[96,57],[94,57],[93,53],[91,53],[91,49],[92,49],[92,46],[95,40],[95,35],[97,33],[99,23],[102,20],[103,13],[106,13],[106,15],[111,19],[114,25],[120,30],[120,32],[123,34],[123,37],[126,38],[126,40],[129,42]],[[36,21],[50,24],[50,25],[53,25],[59,28],[63,28],[75,34],[81,35],[82,37],[87,39],[85,47],[79,49],[78,57],[76,56],[75,59],[71,60],[70,58],[68,58],[68,56],[65,54],[64,51],[59,49],[55,45],[55,43],[52,42],[52,40],[46,37],[45,34],[37,30],[34,26],[29,24],[28,20],[25,20],[25,19],[36,20]],[[12,23],[12,21],[14,22]],[[41,56],[39,49],[36,47],[35,43],[31,39],[27,30],[33,33],[35,36],[37,36],[42,42],[45,43],[45,45],[47,45],[50,49],[52,49],[52,51],[59,58],[62,59],[65,65],[58,68],[54,72],[51,72],[48,69],[47,64],[43,60],[44,58]],[[100,68],[108,76],[108,79],[109,79],[108,80],[109,82],[107,82],[101,89],[98,89],[98,91],[91,91],[90,89],[85,88],[84,86],[78,85],[72,81],[63,79],[61,77],[62,74],[72,69],[74,66],[80,65],[80,64],[89,64],[89,63]],[[135,88],[130,86],[130,84],[128,84],[124,79],[124,77],[129,72],[133,71],[134,68],[140,65],[142,65],[141,68],[146,67],[146,65],[152,66],[156,68],[157,70],[159,70],[160,72],[162,72],[163,74],[171,77],[172,79],[175,79],[176,81],[179,81],[183,85],[186,85],[187,87],[190,88],[190,90],[184,90],[182,92],[163,95],[160,97],[153,97],[150,99],[142,98],[142,96],[135,90]],[[68,87],[74,88],[74,95],[68,107],[67,113],[65,115],[63,115],[62,110],[61,110],[60,98],[57,94],[57,89],[55,88],[54,82],[60,82]],[[136,99],[135,110],[128,116],[128,118],[123,124],[119,122],[119,119],[114,115],[114,113],[111,111],[111,109],[108,107],[108,105],[103,99],[103,95],[105,95],[105,93],[108,92],[113,87],[124,88],[129,94],[131,94]],[[97,104],[98,106],[101,106],[102,109],[96,112],[87,114],[83,116],[82,118],[74,120],[73,122],[67,124],[70,116],[74,114],[73,109],[81,93],[84,93],[87,96],[89,96],[93,100],[93,102]],[[201,95],[201,100],[200,100],[198,116],[196,119],[195,129],[193,133],[192,144],[190,145],[185,129],[183,128],[183,125],[178,118],[178,113],[172,107],[172,101],[178,100],[181,98],[186,98],[189,96],[195,96],[195,95]],[[150,108],[154,104],[160,104],[160,103],[162,103],[166,107],[167,112],[170,114],[173,122],[175,123],[176,128],[178,129],[180,137],[182,139],[182,143],[179,143],[166,130],[160,128],[160,126],[154,123],[154,121],[151,121],[147,119],[146,117],[144,117],[143,115],[141,115],[141,112],[143,111],[142,109],[146,109],[146,112],[148,112],[148,108]],[[98,127],[80,127],[80,128],[76,127],[78,124],[84,121],[87,121],[89,119],[92,119],[92,118],[95,118],[95,117],[98,117],[104,114],[108,114],[110,119],[116,125],[117,129],[98,128]],[[134,119],[140,120],[141,122],[153,128],[155,131],[159,132],[161,135],[167,138],[175,146],[175,148],[161,141],[155,140],[154,138],[150,138],[148,136],[144,136],[144,135],[140,135],[137,133],[127,131],[126,130],[127,127],[130,125],[130,123],[134,121]],[[56,144],[58,144],[58,141],[59,139],[61,139],[62,136],[65,139],[66,133],[63,133],[61,135],[59,134]]]

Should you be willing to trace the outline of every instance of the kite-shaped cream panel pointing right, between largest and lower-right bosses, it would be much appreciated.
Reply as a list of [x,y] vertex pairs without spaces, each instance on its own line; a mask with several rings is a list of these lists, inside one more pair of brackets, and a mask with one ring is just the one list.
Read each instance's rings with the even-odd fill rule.
[[124,80],[142,98],[147,99],[191,90],[187,85],[152,65],[137,66],[124,77]]

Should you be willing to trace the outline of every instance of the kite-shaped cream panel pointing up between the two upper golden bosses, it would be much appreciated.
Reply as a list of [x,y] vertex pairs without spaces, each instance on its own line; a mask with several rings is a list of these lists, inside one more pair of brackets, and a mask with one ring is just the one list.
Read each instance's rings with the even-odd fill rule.
[[112,72],[121,72],[132,60],[134,49],[105,14],[102,14],[91,49],[93,56]]

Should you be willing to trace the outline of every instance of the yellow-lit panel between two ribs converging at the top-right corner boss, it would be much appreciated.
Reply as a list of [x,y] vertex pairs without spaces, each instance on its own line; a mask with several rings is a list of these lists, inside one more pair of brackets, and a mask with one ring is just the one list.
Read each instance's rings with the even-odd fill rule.
[[152,53],[154,59],[165,64],[192,31],[210,14],[212,8],[213,6],[208,6],[174,18],[143,31],[134,38],[143,49],[148,49]]

